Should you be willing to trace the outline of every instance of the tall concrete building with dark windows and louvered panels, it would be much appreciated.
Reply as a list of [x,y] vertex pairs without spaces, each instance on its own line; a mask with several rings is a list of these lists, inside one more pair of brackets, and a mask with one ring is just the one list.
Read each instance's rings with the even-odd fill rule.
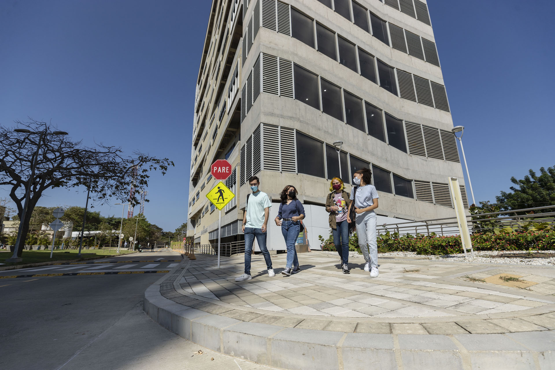
[[463,173],[425,2],[214,0],[194,107],[187,235],[196,243],[217,239],[205,194],[217,183],[210,164],[223,158],[237,195],[222,211],[223,241],[243,239],[251,175],[274,201],[270,249],[285,248],[273,219],[287,184],[319,249],[340,171],[350,183],[372,170],[379,223],[454,215],[447,177],[464,184]]

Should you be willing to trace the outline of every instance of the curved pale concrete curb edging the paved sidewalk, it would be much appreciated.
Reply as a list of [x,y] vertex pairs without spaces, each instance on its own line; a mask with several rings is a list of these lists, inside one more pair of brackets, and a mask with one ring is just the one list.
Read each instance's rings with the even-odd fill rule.
[[[145,291],[144,311],[168,330],[217,352],[299,370],[555,369],[553,330],[425,336],[345,333],[240,321],[219,315],[229,308],[201,300],[204,311],[198,310],[176,302],[182,295],[173,290],[189,263],[184,260]],[[176,301],[162,296],[171,290]]]

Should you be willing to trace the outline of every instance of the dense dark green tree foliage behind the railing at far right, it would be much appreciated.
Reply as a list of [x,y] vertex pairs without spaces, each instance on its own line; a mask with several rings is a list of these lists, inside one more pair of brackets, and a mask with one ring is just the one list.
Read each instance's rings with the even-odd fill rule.
[[[502,211],[555,205],[555,166],[539,169],[540,175],[533,170],[528,171],[524,179],[512,177],[511,192],[501,191],[496,196],[497,205]],[[538,210],[537,212],[553,212],[555,208]]]

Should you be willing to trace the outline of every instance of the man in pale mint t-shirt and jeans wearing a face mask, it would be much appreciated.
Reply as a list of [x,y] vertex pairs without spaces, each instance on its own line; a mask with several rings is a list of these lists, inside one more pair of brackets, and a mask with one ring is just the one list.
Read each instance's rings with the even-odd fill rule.
[[268,229],[268,217],[270,215],[270,207],[272,206],[268,194],[260,191],[260,180],[256,176],[249,179],[250,189],[253,194],[246,196],[246,207],[243,213],[243,233],[245,234],[245,273],[237,278],[235,281],[251,280],[250,275],[250,259],[251,252],[253,251],[254,238],[258,241],[260,251],[266,261],[268,268],[268,276],[275,276],[272,268],[272,260],[270,252],[266,248],[266,230]]

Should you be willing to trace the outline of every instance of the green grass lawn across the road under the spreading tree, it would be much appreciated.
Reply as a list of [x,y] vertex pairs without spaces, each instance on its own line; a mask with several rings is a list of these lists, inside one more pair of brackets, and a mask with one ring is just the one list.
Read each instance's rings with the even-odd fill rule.
[[[9,259],[12,257],[13,252],[8,252],[1,250],[0,251],[0,263],[4,263],[1,266],[13,266],[13,265],[27,265],[27,263],[38,263],[38,262],[48,262],[48,261],[63,261],[63,260],[77,260],[77,253],[79,250],[77,249],[70,249],[70,250],[54,250],[54,254],[52,255],[52,259],[50,258],[50,251],[23,251],[23,262],[19,263],[7,263],[4,260]],[[134,251],[126,251],[122,250],[120,253],[133,253]],[[112,251],[105,251],[102,249],[83,249],[81,250],[81,257],[82,258],[92,258],[92,257],[103,257],[103,256],[113,256],[116,255],[115,249]]]

